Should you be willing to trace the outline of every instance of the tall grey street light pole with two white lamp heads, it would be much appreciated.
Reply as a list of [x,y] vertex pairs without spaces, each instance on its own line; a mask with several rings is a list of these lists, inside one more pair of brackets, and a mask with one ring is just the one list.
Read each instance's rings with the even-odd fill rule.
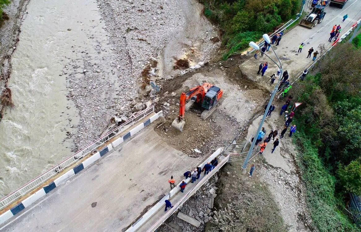
[[[269,38],[269,36],[268,36],[267,34],[264,34],[264,35],[263,35],[263,38],[264,38],[264,40],[265,40],[267,43],[271,44],[271,40],[270,40],[270,38]],[[258,47],[258,45],[257,45],[255,42],[253,42],[253,41],[250,42],[249,45],[250,45],[251,47],[253,47],[253,48],[256,48],[257,50],[260,50],[260,47]],[[242,169],[243,169],[243,170],[247,168],[247,163],[248,163],[249,159],[251,158],[253,148],[255,147],[255,144],[256,144],[257,136],[258,136],[258,134],[261,132],[263,123],[264,123],[264,121],[265,121],[265,119],[266,119],[266,112],[268,112],[268,110],[270,109],[271,103],[272,103],[272,101],[273,101],[273,99],[274,99],[274,96],[275,96],[276,93],[277,93],[277,89],[278,89],[279,83],[280,83],[280,81],[281,81],[281,79],[282,79],[282,64],[281,64],[281,61],[279,60],[276,52],[273,50],[272,45],[271,45],[271,48],[272,48],[272,51],[274,52],[274,54],[276,55],[276,58],[277,58],[277,60],[278,60],[278,62],[279,62],[279,65],[278,65],[271,57],[269,57],[266,53],[264,53],[264,54],[265,54],[268,58],[270,58],[270,60],[273,61],[273,62],[277,65],[277,67],[279,68],[279,70],[280,70],[281,72],[280,72],[280,74],[279,74],[278,83],[277,83],[277,85],[274,87],[274,89],[273,89],[273,91],[272,91],[270,101],[268,102],[268,105],[267,105],[267,108],[266,108],[266,110],[265,110],[265,113],[263,114],[262,120],[261,120],[261,122],[260,122],[260,126],[258,126],[256,135],[254,136],[254,139],[253,139],[253,142],[252,142],[252,144],[251,144],[251,147],[249,148],[249,151],[248,151],[248,153],[247,153],[247,157],[246,157],[246,159],[245,159],[245,161],[244,161],[244,163],[243,163],[243,166],[242,166]],[[261,52],[262,52],[262,51],[261,51]]]

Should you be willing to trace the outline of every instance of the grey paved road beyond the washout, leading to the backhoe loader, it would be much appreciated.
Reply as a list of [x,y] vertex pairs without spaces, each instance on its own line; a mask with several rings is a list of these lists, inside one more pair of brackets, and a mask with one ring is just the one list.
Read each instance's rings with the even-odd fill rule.
[[[275,52],[282,62],[283,70],[288,71],[290,78],[299,76],[305,67],[312,63],[312,58],[306,58],[308,49],[313,47],[316,51],[318,45],[321,43],[326,44],[327,47],[331,46],[332,43],[330,43],[328,39],[330,38],[332,26],[340,24],[343,28],[343,32],[345,32],[353,23],[361,18],[361,0],[348,0],[343,9],[339,9],[335,6],[326,6],[325,12],[326,16],[322,23],[317,24],[317,26],[312,29],[296,26],[283,36],[278,46],[274,46]],[[348,14],[348,18],[345,22],[342,22],[342,17],[345,14]],[[305,43],[306,45],[302,52],[298,53],[297,50],[301,43]],[[276,60],[271,49],[266,54]],[[257,75],[258,66],[260,63],[266,61],[269,63],[268,69],[266,70],[265,76],[261,77],[261,75]],[[249,79],[264,84],[269,80],[271,74],[277,74],[278,69],[269,58],[266,56],[261,57],[260,55],[257,56],[257,60],[252,58],[245,61],[240,65],[240,68]],[[269,84],[265,84],[265,86],[270,90],[273,89],[273,86],[270,86]]]

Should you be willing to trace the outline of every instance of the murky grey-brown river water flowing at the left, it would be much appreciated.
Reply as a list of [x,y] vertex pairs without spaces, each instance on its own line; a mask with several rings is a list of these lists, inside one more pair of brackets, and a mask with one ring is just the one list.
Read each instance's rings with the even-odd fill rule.
[[65,138],[79,112],[60,74],[71,62],[81,69],[84,50],[97,54],[92,35],[105,36],[103,26],[96,1],[30,1],[8,83],[15,108],[0,123],[0,197],[74,153]]

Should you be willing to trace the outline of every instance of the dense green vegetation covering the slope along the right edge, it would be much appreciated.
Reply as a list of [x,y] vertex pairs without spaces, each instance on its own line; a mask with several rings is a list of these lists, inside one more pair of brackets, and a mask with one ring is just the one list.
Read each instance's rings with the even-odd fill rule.
[[302,102],[296,142],[309,209],[320,231],[359,231],[345,210],[348,193],[361,195],[361,49],[337,45],[316,75],[292,88]]

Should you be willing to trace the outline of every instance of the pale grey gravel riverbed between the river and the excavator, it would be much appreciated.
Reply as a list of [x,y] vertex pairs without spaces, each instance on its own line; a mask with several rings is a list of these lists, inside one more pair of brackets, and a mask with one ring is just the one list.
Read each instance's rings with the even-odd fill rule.
[[[157,76],[151,79],[168,79],[181,73],[173,70],[176,57],[194,47],[187,56],[192,62],[208,60],[219,45],[209,40],[217,31],[193,0],[98,0],[97,4],[106,41],[97,39],[96,32],[88,32],[87,36],[97,40],[97,56],[84,51],[81,62],[70,61],[63,70],[68,74],[68,98],[80,114],[79,133],[73,136],[75,149],[97,139],[113,115],[129,118],[134,112],[132,101],[145,93],[140,89],[140,74],[153,58],[158,67]],[[137,98],[139,101],[143,102]]]

